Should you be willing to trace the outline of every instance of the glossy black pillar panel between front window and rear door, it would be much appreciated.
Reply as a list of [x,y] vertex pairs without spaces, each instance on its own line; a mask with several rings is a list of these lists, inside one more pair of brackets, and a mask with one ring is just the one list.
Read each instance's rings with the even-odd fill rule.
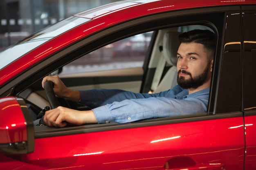
[[243,72],[240,19],[239,11],[227,13],[216,113],[241,110]]

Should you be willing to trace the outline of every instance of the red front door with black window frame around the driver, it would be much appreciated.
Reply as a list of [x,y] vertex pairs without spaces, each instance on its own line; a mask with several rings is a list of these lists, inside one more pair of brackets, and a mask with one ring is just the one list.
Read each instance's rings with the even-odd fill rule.
[[[148,18],[157,19],[153,23],[147,22]],[[157,29],[161,26],[161,29],[166,29],[201,24],[217,33],[207,113],[128,124],[88,124],[65,128],[34,126],[34,152],[9,156],[9,162],[13,162],[12,168],[243,169],[245,140],[240,7],[174,11],[148,18],[140,20],[143,20],[143,28],[150,31],[154,24],[157,24]],[[135,24],[137,20],[133,22]],[[127,22],[126,25],[132,24]],[[124,32],[127,33],[127,30]],[[232,67],[236,69],[230,69]],[[144,77],[149,77],[147,73],[150,73],[150,69],[144,73]],[[7,169],[10,164],[4,165]]]

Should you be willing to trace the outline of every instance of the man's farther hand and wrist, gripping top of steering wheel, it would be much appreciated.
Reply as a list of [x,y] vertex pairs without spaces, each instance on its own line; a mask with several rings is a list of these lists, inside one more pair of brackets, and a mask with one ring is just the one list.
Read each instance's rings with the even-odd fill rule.
[[45,86],[45,82],[47,81],[53,82],[54,84],[53,90],[57,97],[69,99],[74,102],[79,102],[81,97],[80,92],[68,89],[57,75],[44,77],[42,81],[43,88]]

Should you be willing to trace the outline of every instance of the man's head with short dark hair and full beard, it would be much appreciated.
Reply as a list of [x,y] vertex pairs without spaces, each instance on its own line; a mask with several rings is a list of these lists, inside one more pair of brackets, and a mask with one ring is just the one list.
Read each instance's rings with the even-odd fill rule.
[[181,43],[177,57],[177,83],[180,87],[196,89],[210,82],[212,62],[207,60],[202,44]]

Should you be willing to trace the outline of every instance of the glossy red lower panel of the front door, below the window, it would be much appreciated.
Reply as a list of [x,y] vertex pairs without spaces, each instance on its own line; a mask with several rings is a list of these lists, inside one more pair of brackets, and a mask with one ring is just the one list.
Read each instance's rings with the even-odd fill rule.
[[224,163],[226,168],[239,170],[243,168],[244,140],[237,134],[243,135],[243,131],[243,118],[237,117],[45,137],[35,139],[33,153],[16,158],[20,161],[16,168],[84,169],[86,164],[86,169],[95,170],[155,170],[164,169],[172,159],[180,160],[169,165],[173,169],[188,168],[182,160],[190,158],[195,163]]

